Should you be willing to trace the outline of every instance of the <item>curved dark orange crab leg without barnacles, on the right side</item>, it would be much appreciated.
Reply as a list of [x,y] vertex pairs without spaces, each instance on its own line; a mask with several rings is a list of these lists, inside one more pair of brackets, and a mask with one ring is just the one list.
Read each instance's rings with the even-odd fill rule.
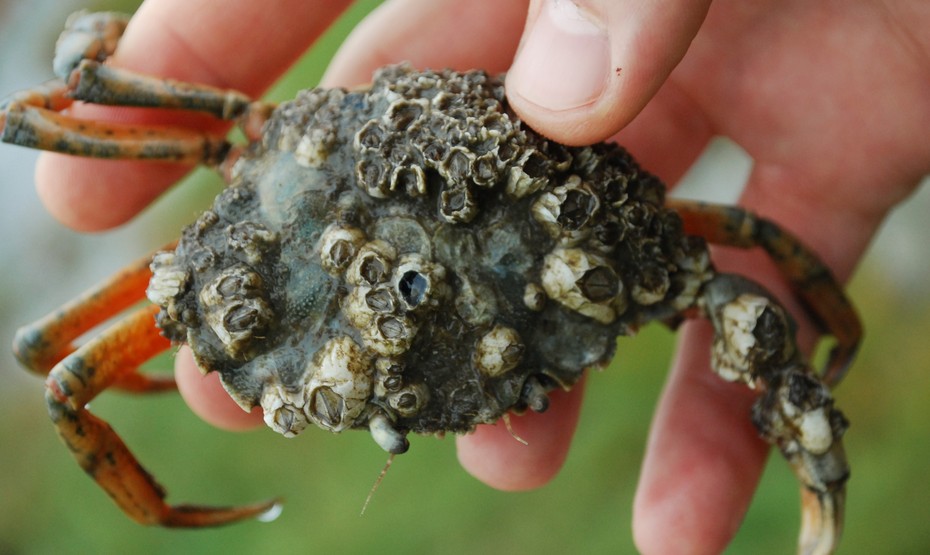
[[830,386],[839,383],[858,350],[862,325],[829,268],[796,237],[742,208],[674,199],[668,205],[681,216],[687,233],[711,243],[765,249],[821,331],[836,339],[822,377]]

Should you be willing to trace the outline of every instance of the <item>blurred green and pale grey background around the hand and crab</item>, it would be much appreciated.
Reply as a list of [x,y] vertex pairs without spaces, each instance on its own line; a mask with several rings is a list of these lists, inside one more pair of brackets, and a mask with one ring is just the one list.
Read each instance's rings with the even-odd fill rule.
[[[0,95],[48,76],[64,15],[87,6],[132,11],[138,2],[0,0]],[[342,37],[377,2],[363,1],[270,94],[314,84]],[[25,46],[29,45],[29,46]],[[930,130],[928,130],[930,133]],[[56,224],[31,187],[33,154],[0,148],[0,333],[35,319],[123,262],[162,244],[219,190],[197,172],[131,224],[80,235]],[[715,143],[689,176],[735,181],[747,162]],[[734,185],[736,186],[736,185]],[[930,481],[930,208],[926,184],[892,219],[855,276],[851,295],[867,326],[853,372],[837,391],[853,422],[853,479],[840,553],[928,553]],[[650,327],[623,340],[611,367],[592,376],[574,447],[563,471],[533,492],[494,491],[467,475],[451,439],[412,438],[364,516],[362,504],[385,461],[367,434],[316,429],[285,440],[261,429],[222,432],[173,395],[108,394],[94,412],[111,421],[168,487],[171,501],[235,504],[284,495],[273,523],[168,531],[126,519],[58,441],[41,380],[0,358],[0,555],[20,553],[634,553],[631,505],[674,336]],[[154,365],[167,370],[170,360]],[[799,526],[794,478],[772,457],[729,553],[794,549]],[[713,518],[713,515],[708,515]],[[674,534],[674,529],[669,530]]]

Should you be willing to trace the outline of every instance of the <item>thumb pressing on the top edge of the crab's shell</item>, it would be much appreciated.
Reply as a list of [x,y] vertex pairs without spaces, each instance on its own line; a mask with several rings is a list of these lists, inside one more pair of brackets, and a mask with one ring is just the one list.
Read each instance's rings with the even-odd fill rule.
[[534,0],[507,95],[530,127],[573,145],[632,120],[684,56],[710,0]]

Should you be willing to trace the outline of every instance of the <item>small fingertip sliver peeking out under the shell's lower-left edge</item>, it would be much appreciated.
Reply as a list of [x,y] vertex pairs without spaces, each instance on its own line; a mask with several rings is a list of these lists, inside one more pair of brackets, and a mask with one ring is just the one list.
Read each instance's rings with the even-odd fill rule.
[[262,425],[262,410],[245,412],[226,393],[216,372],[201,373],[188,347],[178,351],[174,364],[174,379],[181,397],[194,414],[224,430],[248,430]]

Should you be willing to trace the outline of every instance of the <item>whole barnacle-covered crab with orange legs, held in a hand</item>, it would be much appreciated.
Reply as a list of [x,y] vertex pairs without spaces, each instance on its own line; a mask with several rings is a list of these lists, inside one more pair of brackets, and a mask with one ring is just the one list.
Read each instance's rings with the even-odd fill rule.
[[[228,185],[176,243],[22,328],[17,358],[47,375],[58,433],[126,514],[201,527],[259,516],[169,505],[88,403],[106,389],[174,387],[139,365],[186,343],[243,409],[285,435],[365,429],[467,433],[544,411],[651,321],[713,324],[724,380],[758,392],[751,418],[801,484],[801,553],[842,528],[848,423],[830,387],[861,338],[841,285],[798,239],[736,207],[665,198],[621,147],[567,147],[508,108],[481,71],[379,70],[364,90],[315,88],[274,105],[107,66],[128,18],[72,16],[45,85],[0,105],[4,142],[80,156],[202,163]],[[247,139],[76,120],[74,101],[171,108]],[[761,286],[715,270],[708,243],[764,249],[835,346],[821,371]],[[136,307],[147,297],[150,304]],[[128,314],[124,314],[128,313]],[[124,314],[86,343],[76,340]]]

